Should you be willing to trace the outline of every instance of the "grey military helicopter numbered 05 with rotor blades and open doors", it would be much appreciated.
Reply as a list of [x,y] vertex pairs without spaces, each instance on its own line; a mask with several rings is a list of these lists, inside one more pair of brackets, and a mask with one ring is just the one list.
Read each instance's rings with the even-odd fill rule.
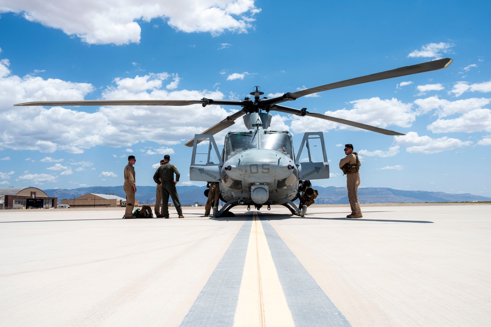
[[[289,208],[292,215],[303,217],[307,212],[307,207],[314,202],[313,199],[317,196],[317,191],[312,189],[310,180],[329,178],[324,136],[322,132],[304,133],[300,150],[295,153],[292,136],[288,131],[269,129],[272,119],[269,112],[278,111],[300,117],[315,117],[385,135],[405,135],[347,119],[311,113],[306,108],[299,110],[280,104],[330,89],[443,69],[451,63],[452,59],[449,58],[438,59],[297,92],[287,92],[282,96],[272,98],[261,97],[264,92],[260,90],[260,87],[255,87],[250,93],[253,97],[246,96],[243,100],[202,98],[201,100],[42,101],[20,103],[14,106],[188,106],[201,104],[202,107],[209,105],[241,107],[237,112],[201,134],[196,134],[193,139],[185,143],[185,146],[193,147],[190,180],[219,183],[220,199],[225,202],[225,205],[218,210],[215,204],[213,207],[215,217],[230,215],[230,209],[235,206],[247,206],[248,210],[254,206],[259,210],[262,206],[270,209],[271,205],[285,206]],[[240,117],[243,118],[247,130],[229,132],[225,136],[224,147],[220,152],[213,135],[228,128]],[[304,149],[307,154],[305,159],[300,160]],[[318,153],[314,153],[315,150]],[[297,199],[300,200],[299,206],[293,203]]]

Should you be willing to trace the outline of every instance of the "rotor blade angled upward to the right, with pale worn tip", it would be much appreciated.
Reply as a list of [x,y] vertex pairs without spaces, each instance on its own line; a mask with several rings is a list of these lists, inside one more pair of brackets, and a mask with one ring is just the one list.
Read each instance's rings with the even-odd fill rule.
[[404,67],[400,67],[400,68],[396,68],[396,69],[392,69],[392,70],[387,70],[387,71],[384,71],[381,73],[375,73],[375,74],[371,74],[371,75],[352,78],[352,79],[345,80],[345,81],[326,84],[326,85],[318,86],[318,87],[311,88],[311,89],[303,89],[303,90],[298,91],[298,92],[285,93],[283,96],[280,96],[277,98],[265,99],[265,100],[261,101],[261,103],[264,103],[265,105],[268,105],[268,104],[269,105],[275,105],[277,103],[282,103],[282,102],[289,101],[289,100],[296,100],[301,96],[313,94],[313,93],[318,93],[318,92],[322,92],[322,91],[327,91],[329,89],[339,89],[339,88],[344,88],[344,87],[351,86],[351,85],[381,81],[381,80],[386,80],[386,79],[390,79],[390,78],[402,77],[402,76],[407,76],[407,75],[413,75],[413,74],[419,74],[419,73],[424,73],[424,72],[428,72],[428,71],[433,71],[433,70],[437,70],[437,69],[443,69],[443,68],[446,68],[451,63],[452,63],[452,59],[449,59],[449,58],[433,60],[433,61],[429,61],[429,62],[423,62],[423,63],[419,63],[419,64],[412,65],[412,66],[404,66]]

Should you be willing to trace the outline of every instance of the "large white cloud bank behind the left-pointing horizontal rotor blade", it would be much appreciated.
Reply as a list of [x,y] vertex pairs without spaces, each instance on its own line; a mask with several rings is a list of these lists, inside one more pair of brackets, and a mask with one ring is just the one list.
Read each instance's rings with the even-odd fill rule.
[[[4,61],[5,62],[5,61]],[[0,67],[8,67],[0,63]],[[170,77],[173,87],[166,88]],[[177,85],[175,73],[149,73],[133,78],[115,78],[102,92],[101,99],[120,100],[196,100],[202,97],[223,99],[218,90],[187,90]],[[170,84],[167,83],[167,86]],[[13,107],[15,103],[30,101],[83,100],[93,87],[85,83],[44,80],[41,77],[19,77],[8,73],[0,77],[0,114],[2,115],[2,149],[33,150],[44,153],[64,151],[84,153],[97,146],[130,148],[140,141],[151,141],[165,146],[181,144],[197,132],[206,130],[234,112],[210,105],[202,115],[201,105],[191,106],[111,106],[95,110],[64,107]],[[235,109],[236,110],[236,109]],[[193,119],[190,119],[193,118]],[[199,119],[194,119],[199,118]],[[22,124],[17,123],[22,121]],[[135,124],[135,121],[145,121]],[[163,128],[165,122],[165,128]],[[236,124],[237,128],[241,124]],[[131,131],[131,133],[128,133]],[[219,137],[219,136],[217,136]],[[159,154],[173,154],[167,147],[156,149]],[[163,153],[166,152],[166,153]],[[57,162],[52,156],[44,162]],[[71,163],[74,165],[74,163]]]

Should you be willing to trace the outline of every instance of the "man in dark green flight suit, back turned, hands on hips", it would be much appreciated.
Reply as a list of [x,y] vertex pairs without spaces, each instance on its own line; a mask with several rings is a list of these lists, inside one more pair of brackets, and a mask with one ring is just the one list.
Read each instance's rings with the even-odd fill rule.
[[[175,184],[179,181],[179,171],[177,168],[169,163],[171,161],[171,156],[169,154],[164,155],[164,164],[160,166],[155,174],[153,175],[153,180],[158,184],[160,180],[162,181],[162,201],[164,202],[164,218],[169,218],[169,195],[172,198],[175,210],[179,215],[179,218],[184,218],[181,209],[181,203],[179,202],[179,197],[177,195],[177,190],[175,189]],[[175,174],[175,180],[174,180]],[[160,178],[160,180],[159,180]]]

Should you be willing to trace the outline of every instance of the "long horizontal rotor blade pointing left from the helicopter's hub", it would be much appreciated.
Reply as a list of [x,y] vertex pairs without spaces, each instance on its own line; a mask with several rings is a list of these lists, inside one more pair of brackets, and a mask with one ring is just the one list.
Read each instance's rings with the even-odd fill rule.
[[37,101],[14,104],[14,106],[189,106],[203,104],[203,100],[81,100]]

